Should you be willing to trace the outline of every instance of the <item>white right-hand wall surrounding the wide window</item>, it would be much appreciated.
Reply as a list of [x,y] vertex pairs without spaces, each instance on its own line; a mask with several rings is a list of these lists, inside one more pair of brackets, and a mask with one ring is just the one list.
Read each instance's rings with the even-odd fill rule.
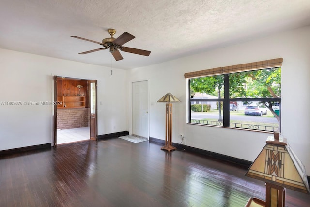
[[[150,137],[165,139],[165,104],[156,101],[171,92],[182,101],[173,103],[173,142],[181,143],[180,134],[183,134],[183,143],[188,146],[254,161],[270,134],[186,124],[187,88],[184,73],[282,57],[281,133],[306,166],[307,175],[310,175],[310,107],[307,107],[310,103],[309,37],[310,27],[305,27],[136,68],[128,71],[127,84],[149,80]],[[130,101],[130,96],[128,98]]]

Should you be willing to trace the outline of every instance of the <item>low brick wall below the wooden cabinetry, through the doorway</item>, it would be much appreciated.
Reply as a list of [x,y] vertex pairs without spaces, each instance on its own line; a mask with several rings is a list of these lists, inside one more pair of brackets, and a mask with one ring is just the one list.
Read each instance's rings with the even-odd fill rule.
[[89,127],[89,108],[57,109],[57,129]]

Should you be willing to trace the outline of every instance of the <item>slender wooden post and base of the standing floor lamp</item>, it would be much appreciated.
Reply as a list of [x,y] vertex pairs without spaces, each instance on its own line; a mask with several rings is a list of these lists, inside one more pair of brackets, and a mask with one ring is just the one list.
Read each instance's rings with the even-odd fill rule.
[[168,152],[176,150],[176,147],[172,146],[172,103],[166,103],[166,139],[165,146],[160,149]]

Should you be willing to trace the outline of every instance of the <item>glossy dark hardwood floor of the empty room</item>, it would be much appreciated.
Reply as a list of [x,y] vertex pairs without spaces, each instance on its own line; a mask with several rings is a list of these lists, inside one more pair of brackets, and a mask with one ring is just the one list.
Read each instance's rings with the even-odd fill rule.
[[[152,142],[86,141],[0,158],[0,207],[243,207],[264,200],[247,169]],[[286,206],[310,195],[287,190]]]

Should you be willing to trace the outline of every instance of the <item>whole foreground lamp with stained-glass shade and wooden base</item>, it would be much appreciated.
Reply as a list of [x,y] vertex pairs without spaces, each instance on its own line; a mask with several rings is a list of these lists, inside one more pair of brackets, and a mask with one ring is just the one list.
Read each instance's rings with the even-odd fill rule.
[[310,193],[305,166],[283,138],[268,137],[245,175],[266,182],[266,201],[262,206],[284,207],[286,188]]

